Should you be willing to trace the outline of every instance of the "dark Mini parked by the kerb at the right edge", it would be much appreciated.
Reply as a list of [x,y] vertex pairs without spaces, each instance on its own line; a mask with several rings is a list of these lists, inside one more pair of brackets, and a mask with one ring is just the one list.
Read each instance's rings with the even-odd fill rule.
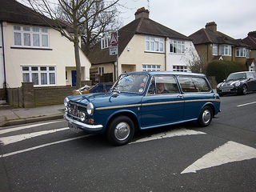
[[256,90],[256,72],[242,71],[230,74],[224,82],[217,86],[217,93],[224,94],[247,94],[248,91]]

